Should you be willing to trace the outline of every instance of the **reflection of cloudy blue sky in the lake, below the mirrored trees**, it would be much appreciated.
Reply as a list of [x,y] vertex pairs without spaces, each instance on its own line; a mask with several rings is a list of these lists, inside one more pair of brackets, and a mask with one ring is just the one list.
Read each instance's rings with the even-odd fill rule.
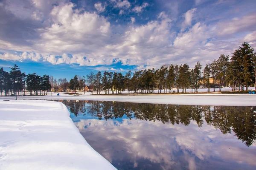
[[124,169],[256,169],[256,144],[247,147],[234,134],[139,119],[99,120],[79,113],[71,118],[87,142],[116,168]]

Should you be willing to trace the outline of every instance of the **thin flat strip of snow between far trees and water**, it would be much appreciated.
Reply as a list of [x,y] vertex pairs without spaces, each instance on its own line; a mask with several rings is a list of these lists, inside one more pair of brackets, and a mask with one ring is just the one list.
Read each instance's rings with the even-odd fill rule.
[[[15,97],[2,97],[15,99]],[[90,95],[90,96],[20,96],[18,99],[102,100],[171,105],[256,106],[256,95]]]

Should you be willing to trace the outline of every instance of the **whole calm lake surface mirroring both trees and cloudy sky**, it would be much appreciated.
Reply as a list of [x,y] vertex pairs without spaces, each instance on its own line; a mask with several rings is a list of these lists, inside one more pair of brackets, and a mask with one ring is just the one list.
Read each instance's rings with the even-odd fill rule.
[[256,169],[256,107],[60,102],[119,170]]

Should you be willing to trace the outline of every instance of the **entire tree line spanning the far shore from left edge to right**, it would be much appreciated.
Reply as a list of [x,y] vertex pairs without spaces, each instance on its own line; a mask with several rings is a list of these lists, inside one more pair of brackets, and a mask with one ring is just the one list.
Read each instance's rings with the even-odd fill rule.
[[[38,95],[38,91],[44,91],[52,87],[58,90],[60,87],[64,91],[72,89],[79,91],[87,86],[91,86],[97,94],[104,91],[105,94],[122,94],[127,90],[128,94],[133,93],[186,93],[187,89],[190,92],[198,92],[198,88],[216,88],[230,85],[232,90],[238,88],[239,91],[244,91],[244,86],[248,90],[249,86],[256,84],[256,53],[251,46],[244,42],[241,47],[235,50],[232,57],[222,54],[218,59],[214,59],[212,63],[203,66],[198,61],[194,68],[189,68],[188,64],[174,65],[165,64],[159,69],[142,69],[140,71],[128,71],[125,75],[122,73],[104,71],[96,74],[90,72],[86,76],[79,77],[76,75],[68,82],[64,79],[51,79],[49,76],[43,77],[36,74],[21,73],[17,65],[11,68],[11,71],[3,71],[0,69],[0,88],[1,94],[6,91],[6,94],[15,93],[21,94],[22,89],[32,91],[34,95]],[[40,92],[41,94],[41,92]]]

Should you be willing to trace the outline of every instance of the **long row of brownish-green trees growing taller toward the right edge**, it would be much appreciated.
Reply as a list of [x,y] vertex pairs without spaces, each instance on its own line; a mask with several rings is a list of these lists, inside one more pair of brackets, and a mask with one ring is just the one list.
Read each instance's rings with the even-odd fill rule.
[[[83,88],[85,82],[94,86],[97,94],[105,91],[105,94],[122,94],[127,89],[128,93],[170,93],[182,92],[186,93],[186,89],[190,88],[190,92],[198,92],[198,88],[216,88],[221,91],[223,86],[230,85],[233,89],[248,91],[249,86],[256,84],[256,54],[251,46],[244,42],[239,49],[236,49],[232,57],[222,54],[218,59],[214,59],[212,63],[208,63],[204,68],[200,62],[195,64],[194,68],[189,68],[188,64],[174,65],[165,64],[159,69],[143,69],[140,71],[128,71],[125,75],[117,72],[91,72],[82,79],[70,80],[70,88]],[[175,90],[174,90],[175,88]]]

